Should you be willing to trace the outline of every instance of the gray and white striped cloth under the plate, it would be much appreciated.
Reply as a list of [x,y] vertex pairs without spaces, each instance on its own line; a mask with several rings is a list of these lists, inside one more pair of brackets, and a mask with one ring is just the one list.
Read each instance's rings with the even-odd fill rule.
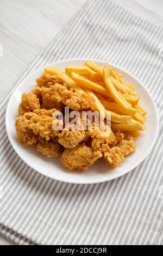
[[[74,185],[47,178],[12,149],[1,101],[1,233],[17,244],[160,245],[162,237],[162,81],[160,26],[129,13],[115,1],[88,1],[29,66],[66,58],[96,58],[122,66],[154,97],[160,132],[152,153],[132,172],[113,181]],[[16,86],[17,86],[16,84]],[[14,90],[14,88],[13,88]]]

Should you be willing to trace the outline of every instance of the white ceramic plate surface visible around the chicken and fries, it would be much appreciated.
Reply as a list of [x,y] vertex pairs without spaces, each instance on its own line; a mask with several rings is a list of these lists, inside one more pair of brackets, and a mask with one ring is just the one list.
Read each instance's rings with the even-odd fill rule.
[[[64,70],[67,65],[82,65],[85,60],[86,59],[61,60],[47,66],[57,66],[59,69]],[[104,64],[104,62],[99,60],[94,61],[99,65]],[[25,145],[20,144],[15,131],[15,118],[17,117],[18,104],[20,103],[22,93],[28,93],[35,87],[35,79],[42,75],[43,68],[45,68],[43,67],[30,74],[21,84],[19,84],[10,97],[5,114],[5,125],[9,140],[16,153],[24,162],[37,172],[52,179],[78,184],[91,184],[118,178],[130,172],[130,170],[133,170],[145,159],[151,151],[158,133],[159,119],[155,102],[145,86],[143,86],[143,84],[133,75],[118,68],[118,66],[111,64],[110,66],[115,67],[120,74],[124,74],[125,77],[123,78],[123,81],[135,84],[136,92],[140,95],[140,105],[148,111],[145,124],[147,130],[141,132],[141,137],[136,140],[136,152],[127,156],[126,160],[115,169],[109,168],[102,159],[99,159],[95,164],[81,173],[70,172],[62,165],[58,157],[48,158],[39,153],[35,147],[26,147]]]

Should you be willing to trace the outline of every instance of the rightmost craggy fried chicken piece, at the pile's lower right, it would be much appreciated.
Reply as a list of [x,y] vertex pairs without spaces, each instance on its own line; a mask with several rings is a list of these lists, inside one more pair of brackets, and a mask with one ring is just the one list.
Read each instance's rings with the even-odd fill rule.
[[124,156],[133,153],[136,150],[134,141],[123,139],[116,147],[112,147],[104,153],[104,160],[108,166],[117,167],[124,160]]

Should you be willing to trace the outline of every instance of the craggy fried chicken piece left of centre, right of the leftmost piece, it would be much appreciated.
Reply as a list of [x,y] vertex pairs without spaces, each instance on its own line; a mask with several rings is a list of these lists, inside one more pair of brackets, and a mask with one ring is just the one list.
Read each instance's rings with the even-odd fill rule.
[[52,114],[55,111],[55,108],[50,110],[36,109],[34,111],[35,115],[30,119],[29,128],[33,130],[35,135],[40,135],[47,141],[58,136],[59,131],[53,130],[53,121],[56,118],[52,117]]

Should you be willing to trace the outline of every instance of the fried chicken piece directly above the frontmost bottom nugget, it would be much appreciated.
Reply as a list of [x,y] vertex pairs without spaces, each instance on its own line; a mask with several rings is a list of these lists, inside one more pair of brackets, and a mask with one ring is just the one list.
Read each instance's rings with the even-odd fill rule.
[[73,149],[85,138],[85,131],[77,131],[77,130],[62,130],[58,135],[58,141],[65,148]]

